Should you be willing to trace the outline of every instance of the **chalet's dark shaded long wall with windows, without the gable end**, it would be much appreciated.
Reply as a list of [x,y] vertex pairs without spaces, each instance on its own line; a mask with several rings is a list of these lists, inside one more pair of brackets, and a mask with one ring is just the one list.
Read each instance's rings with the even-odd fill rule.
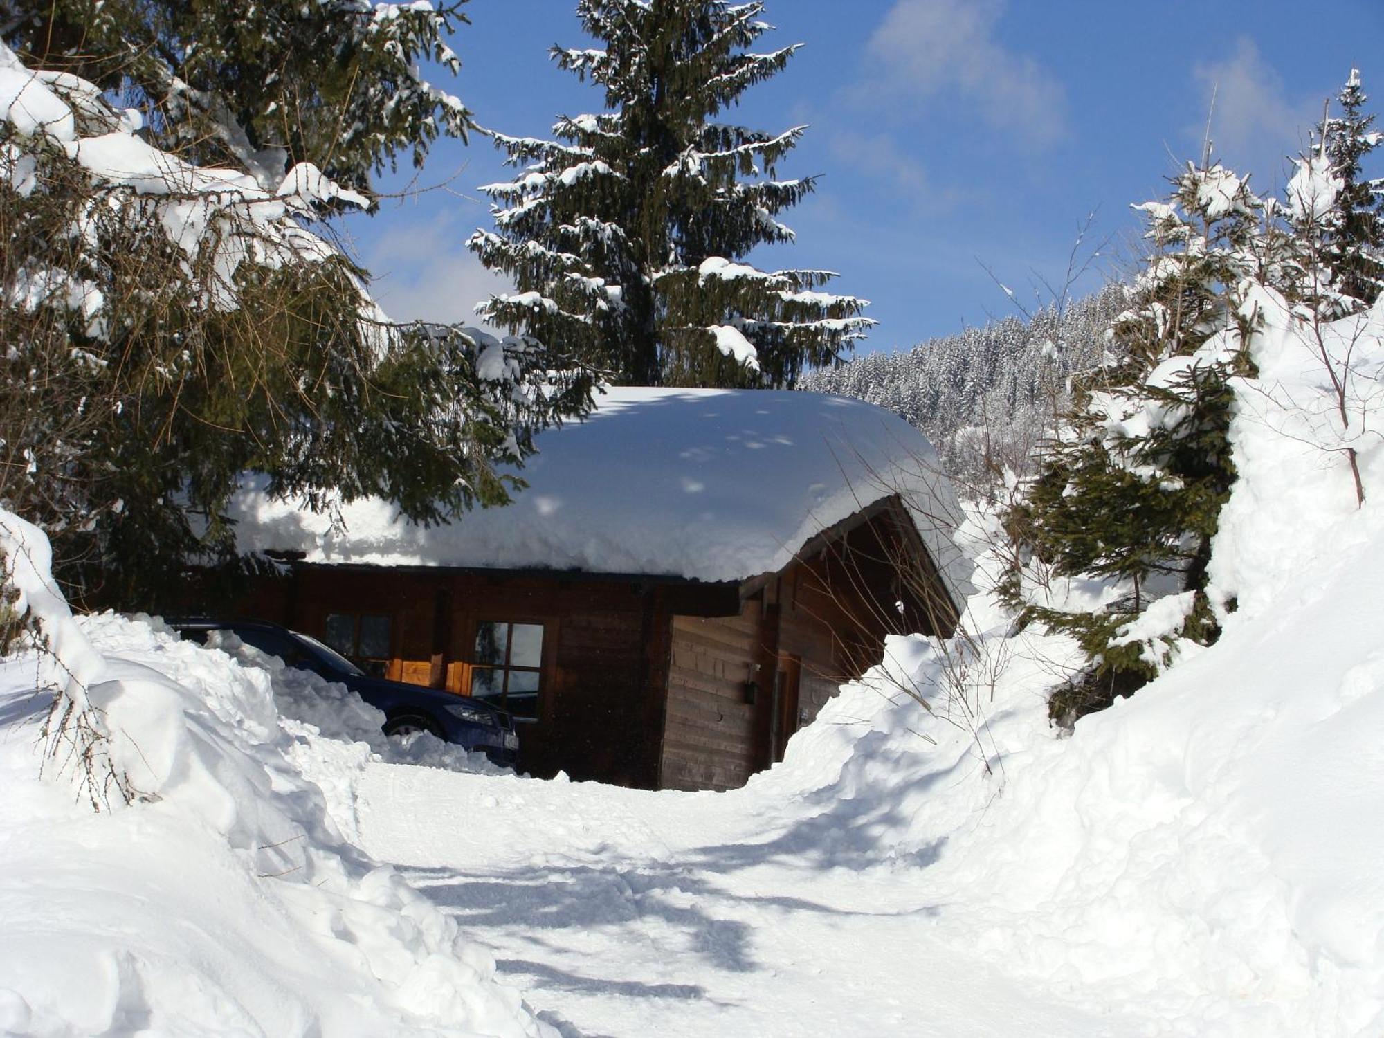
[[668,617],[659,585],[562,576],[299,566],[244,614],[324,638],[328,613],[388,614],[386,677],[464,691],[476,624],[544,626],[540,716],[516,724],[523,771],[653,787]]

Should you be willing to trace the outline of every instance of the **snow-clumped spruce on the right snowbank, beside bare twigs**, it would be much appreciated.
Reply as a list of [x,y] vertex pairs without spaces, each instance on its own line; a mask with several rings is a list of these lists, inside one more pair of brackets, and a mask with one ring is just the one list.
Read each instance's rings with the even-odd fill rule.
[[[1208,340],[1250,334],[1239,302],[1258,274],[1262,203],[1222,166],[1189,165],[1168,202],[1139,208],[1154,252],[1110,328],[1113,356],[1075,379],[1038,476],[1006,519],[1081,588],[1055,594],[1016,572],[1009,603],[1078,638],[1098,699],[1156,675],[1181,639],[1218,634],[1205,569],[1235,480],[1226,379],[1248,360]],[[1055,700],[1056,713],[1071,706]]]

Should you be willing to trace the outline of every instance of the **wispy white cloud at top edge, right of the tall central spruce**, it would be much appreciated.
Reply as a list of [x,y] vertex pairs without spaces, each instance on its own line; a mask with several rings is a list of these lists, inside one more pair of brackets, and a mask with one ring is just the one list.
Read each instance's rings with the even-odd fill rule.
[[871,36],[868,90],[958,97],[991,127],[1030,145],[1066,133],[1066,91],[1048,69],[1001,43],[1003,0],[898,0]]

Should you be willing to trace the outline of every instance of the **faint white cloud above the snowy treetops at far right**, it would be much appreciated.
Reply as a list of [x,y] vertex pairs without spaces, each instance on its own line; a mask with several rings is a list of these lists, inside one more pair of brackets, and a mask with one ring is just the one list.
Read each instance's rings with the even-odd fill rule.
[[[1322,98],[1289,98],[1283,78],[1247,37],[1236,40],[1229,57],[1203,62],[1193,75],[1204,89],[1204,111],[1211,112],[1212,154],[1241,173],[1254,173],[1261,192],[1280,185],[1287,156],[1308,145],[1322,118]],[[1196,147],[1189,158],[1200,158],[1204,115],[1189,133]]]

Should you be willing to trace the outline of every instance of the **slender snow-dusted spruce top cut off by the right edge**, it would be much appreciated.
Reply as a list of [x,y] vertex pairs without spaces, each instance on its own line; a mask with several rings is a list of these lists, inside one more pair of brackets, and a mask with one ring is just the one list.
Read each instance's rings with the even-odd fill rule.
[[1351,69],[1336,100],[1341,115],[1326,119],[1322,151],[1341,184],[1331,212],[1322,213],[1327,224],[1322,257],[1336,291],[1360,309],[1384,289],[1384,177],[1366,177],[1363,167],[1380,147],[1380,134],[1372,129],[1374,116],[1365,112],[1369,97],[1359,69]]

